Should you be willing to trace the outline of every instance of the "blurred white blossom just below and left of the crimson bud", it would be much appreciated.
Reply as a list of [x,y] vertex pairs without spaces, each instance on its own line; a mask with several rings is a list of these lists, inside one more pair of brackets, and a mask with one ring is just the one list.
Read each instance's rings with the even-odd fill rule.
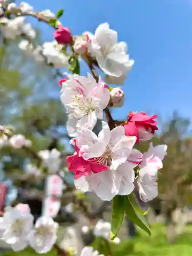
[[46,56],[49,65],[53,65],[56,69],[68,67],[68,57],[60,53],[57,44],[53,42],[45,42],[42,45],[42,54]]

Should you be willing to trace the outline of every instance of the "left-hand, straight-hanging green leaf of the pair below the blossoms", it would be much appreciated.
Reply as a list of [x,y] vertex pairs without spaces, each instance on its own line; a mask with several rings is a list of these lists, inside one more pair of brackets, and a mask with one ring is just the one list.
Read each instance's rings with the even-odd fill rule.
[[117,195],[113,199],[111,233],[110,233],[111,240],[114,240],[114,238],[117,236],[123,222],[123,216],[124,216],[124,197]]

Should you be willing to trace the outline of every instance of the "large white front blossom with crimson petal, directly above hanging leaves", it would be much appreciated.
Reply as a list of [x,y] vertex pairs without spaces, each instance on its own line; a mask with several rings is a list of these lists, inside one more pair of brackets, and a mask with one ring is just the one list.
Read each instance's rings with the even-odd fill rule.
[[[134,189],[133,168],[137,164],[127,159],[136,137],[125,136],[122,126],[112,131],[103,121],[102,126],[98,137],[92,131],[83,129],[78,131],[75,141],[72,140],[72,144],[79,148],[79,156],[92,164],[90,176],[75,179],[75,186],[82,191],[94,191],[102,200],[110,201],[115,195],[129,195]],[[78,162],[73,164],[78,168]],[[94,164],[97,165],[94,167]]]

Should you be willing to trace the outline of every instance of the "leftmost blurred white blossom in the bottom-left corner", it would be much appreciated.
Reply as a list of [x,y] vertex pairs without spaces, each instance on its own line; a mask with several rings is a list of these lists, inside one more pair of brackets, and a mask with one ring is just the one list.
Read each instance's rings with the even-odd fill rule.
[[5,231],[3,239],[10,244],[14,251],[20,251],[28,246],[27,236],[33,226],[33,216],[30,208],[25,204],[18,204],[12,208],[5,208],[3,226]]

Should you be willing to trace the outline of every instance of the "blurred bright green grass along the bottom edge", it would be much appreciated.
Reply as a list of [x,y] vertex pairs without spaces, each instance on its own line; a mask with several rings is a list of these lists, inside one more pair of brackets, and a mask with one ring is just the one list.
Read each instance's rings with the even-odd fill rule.
[[[127,251],[130,256],[190,256],[192,255],[192,225],[186,226],[185,232],[178,236],[175,244],[168,244],[166,240],[166,230],[161,224],[152,226],[152,236],[149,237],[139,230],[139,236],[132,240],[133,250]],[[0,256],[36,256],[37,254],[30,248],[24,251],[7,251],[0,253]],[[52,250],[47,256],[56,256],[56,251]],[[79,256],[79,255],[78,255]],[[121,254],[125,256],[125,254]]]

